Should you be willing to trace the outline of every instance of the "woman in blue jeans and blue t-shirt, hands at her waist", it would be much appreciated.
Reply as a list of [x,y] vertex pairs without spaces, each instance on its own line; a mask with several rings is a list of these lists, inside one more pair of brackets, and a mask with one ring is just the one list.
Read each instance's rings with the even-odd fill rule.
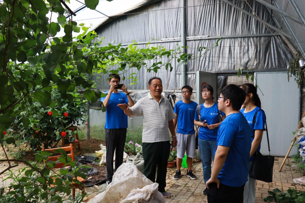
[[194,120],[194,124],[199,127],[198,146],[205,183],[211,177],[211,158],[214,160],[215,157],[218,126],[225,118],[224,113],[219,111],[217,103],[213,102],[213,94],[212,86],[206,84],[202,87],[201,96],[204,99],[204,103],[200,105],[200,112],[199,107],[196,108]]

